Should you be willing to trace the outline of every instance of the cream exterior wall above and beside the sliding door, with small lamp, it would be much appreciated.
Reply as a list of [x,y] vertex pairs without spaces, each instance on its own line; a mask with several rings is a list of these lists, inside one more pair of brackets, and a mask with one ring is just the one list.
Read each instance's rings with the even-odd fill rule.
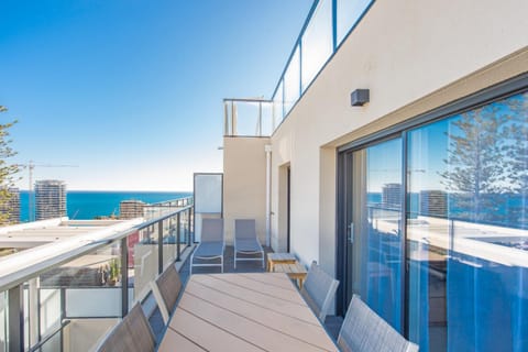
[[376,1],[272,136],[272,243],[289,163],[292,252],[333,273],[336,147],[528,72],[526,13],[525,0]]

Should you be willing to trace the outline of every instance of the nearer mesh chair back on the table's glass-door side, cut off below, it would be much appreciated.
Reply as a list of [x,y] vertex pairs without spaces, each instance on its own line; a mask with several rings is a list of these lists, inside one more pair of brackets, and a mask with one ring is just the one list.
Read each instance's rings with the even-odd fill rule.
[[417,352],[418,345],[407,341],[354,295],[338,337],[341,351]]

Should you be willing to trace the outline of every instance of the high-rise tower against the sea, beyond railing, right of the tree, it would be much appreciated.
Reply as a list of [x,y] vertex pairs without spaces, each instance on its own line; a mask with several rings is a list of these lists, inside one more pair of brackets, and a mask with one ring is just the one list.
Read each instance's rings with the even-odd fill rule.
[[63,180],[35,182],[35,219],[66,217],[66,184]]

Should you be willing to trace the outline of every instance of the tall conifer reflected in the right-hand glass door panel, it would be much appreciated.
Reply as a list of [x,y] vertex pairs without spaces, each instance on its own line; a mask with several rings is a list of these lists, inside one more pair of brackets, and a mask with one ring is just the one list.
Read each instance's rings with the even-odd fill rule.
[[460,216],[473,221],[492,221],[494,209],[505,202],[505,124],[508,117],[501,103],[484,106],[460,114],[447,132],[448,170],[442,184],[455,193]]

